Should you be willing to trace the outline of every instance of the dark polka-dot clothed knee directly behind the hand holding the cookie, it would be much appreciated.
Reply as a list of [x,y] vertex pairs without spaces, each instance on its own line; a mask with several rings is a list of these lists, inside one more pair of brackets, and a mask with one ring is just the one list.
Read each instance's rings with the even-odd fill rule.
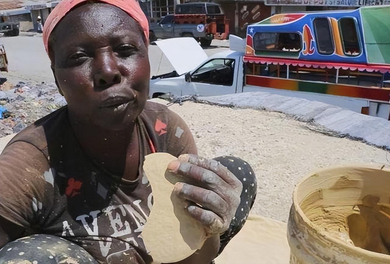
[[254,171],[246,161],[230,156],[218,157],[215,158],[215,160],[219,161],[223,166],[227,167],[227,169],[232,172],[243,184],[240,205],[238,206],[233,220],[230,222],[229,229],[220,237],[221,246],[220,251],[218,252],[219,255],[227,243],[229,243],[230,239],[236,236],[239,230],[241,230],[246,221],[246,218],[248,218],[249,211],[252,208],[256,198],[257,181]]

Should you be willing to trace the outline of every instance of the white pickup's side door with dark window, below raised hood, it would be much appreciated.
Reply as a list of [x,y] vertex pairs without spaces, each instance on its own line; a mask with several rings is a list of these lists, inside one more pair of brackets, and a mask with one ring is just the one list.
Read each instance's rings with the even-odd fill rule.
[[183,95],[216,96],[234,94],[237,87],[238,63],[235,58],[213,58],[191,74],[191,82]]

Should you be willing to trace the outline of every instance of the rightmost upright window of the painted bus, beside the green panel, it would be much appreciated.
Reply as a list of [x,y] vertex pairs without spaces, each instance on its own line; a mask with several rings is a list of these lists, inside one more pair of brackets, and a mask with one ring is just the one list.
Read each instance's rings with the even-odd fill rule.
[[339,27],[344,54],[348,56],[359,55],[360,45],[355,19],[341,18]]

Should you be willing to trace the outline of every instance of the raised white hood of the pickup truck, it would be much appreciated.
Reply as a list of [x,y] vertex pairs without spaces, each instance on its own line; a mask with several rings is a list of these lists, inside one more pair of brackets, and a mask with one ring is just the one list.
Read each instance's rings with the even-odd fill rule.
[[192,37],[163,39],[154,43],[163,51],[179,75],[192,71],[208,58]]

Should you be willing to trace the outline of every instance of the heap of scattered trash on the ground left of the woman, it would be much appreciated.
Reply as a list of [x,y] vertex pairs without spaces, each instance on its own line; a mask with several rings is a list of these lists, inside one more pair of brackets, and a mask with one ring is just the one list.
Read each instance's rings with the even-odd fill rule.
[[18,133],[64,105],[64,97],[52,83],[30,87],[19,82],[10,90],[0,90],[0,137]]

